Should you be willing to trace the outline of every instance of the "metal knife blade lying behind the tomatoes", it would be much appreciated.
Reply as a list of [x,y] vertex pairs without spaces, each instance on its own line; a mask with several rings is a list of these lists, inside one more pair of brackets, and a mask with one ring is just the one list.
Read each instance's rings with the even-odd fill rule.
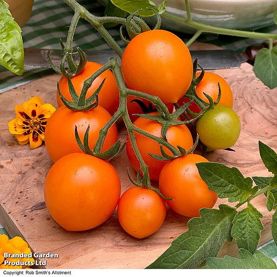
[[[25,48],[24,65],[49,68],[47,52],[48,49]],[[112,50],[85,50],[85,53],[88,56],[88,60],[101,64],[108,62],[111,57],[119,59],[119,56]],[[192,60],[198,58],[198,63],[208,70],[237,68],[242,62],[246,62],[249,59],[245,53],[238,53],[233,50],[193,50],[190,53]],[[62,58],[62,50],[52,49],[50,57],[54,64],[59,65]]]

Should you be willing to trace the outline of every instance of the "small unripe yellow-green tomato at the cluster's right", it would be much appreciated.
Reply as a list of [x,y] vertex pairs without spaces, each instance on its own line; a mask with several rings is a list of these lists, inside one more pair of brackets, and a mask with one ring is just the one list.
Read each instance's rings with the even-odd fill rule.
[[207,147],[225,149],[233,146],[240,134],[240,121],[229,107],[217,105],[196,123],[199,139]]

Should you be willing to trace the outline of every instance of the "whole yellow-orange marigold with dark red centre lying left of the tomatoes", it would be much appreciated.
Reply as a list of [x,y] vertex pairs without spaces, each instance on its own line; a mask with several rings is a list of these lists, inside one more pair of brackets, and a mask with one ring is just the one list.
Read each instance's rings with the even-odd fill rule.
[[43,104],[40,97],[32,97],[15,106],[16,118],[8,123],[9,131],[21,145],[30,142],[30,147],[35,149],[44,140],[47,120],[55,110],[51,104]]

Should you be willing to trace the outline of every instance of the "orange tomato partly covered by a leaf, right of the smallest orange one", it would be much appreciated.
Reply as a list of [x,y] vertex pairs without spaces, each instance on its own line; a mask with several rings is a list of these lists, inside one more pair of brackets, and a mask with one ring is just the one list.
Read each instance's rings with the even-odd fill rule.
[[208,162],[202,156],[189,154],[167,163],[161,170],[159,189],[167,198],[166,203],[176,213],[189,217],[199,217],[199,210],[212,208],[218,196],[210,191],[201,179],[197,162]]

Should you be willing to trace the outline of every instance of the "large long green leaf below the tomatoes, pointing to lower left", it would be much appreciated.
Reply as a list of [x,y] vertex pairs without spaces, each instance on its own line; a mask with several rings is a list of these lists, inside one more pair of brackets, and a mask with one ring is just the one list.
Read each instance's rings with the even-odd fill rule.
[[200,218],[188,221],[188,230],[147,268],[196,268],[205,258],[216,257],[225,240],[231,241],[237,211],[227,205],[200,210]]

